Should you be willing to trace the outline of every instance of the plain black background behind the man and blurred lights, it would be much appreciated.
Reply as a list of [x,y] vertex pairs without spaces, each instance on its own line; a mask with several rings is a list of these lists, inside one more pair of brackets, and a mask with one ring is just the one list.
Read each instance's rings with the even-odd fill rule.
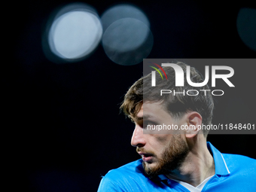
[[[59,65],[44,56],[45,23],[56,7],[70,2],[20,1],[5,8],[2,129],[7,130],[3,136],[11,164],[10,190],[96,191],[108,170],[139,158],[130,146],[133,123],[119,107],[126,90],[142,77],[142,62],[117,65],[101,44],[80,62]],[[253,1],[130,2],[151,23],[154,46],[148,58],[256,56],[236,30],[239,9],[255,8]],[[101,16],[119,2],[86,3]],[[251,89],[241,84],[236,96],[218,98],[215,123],[255,123],[254,69],[245,71],[242,64],[235,69],[233,82],[250,82]],[[255,135],[210,135],[208,140],[223,153],[256,158],[254,139]]]

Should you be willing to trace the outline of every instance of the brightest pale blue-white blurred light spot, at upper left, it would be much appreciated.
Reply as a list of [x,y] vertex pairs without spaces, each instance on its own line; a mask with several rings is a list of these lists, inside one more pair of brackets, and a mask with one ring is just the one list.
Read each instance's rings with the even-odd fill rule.
[[51,60],[56,60],[56,56],[69,62],[84,59],[95,50],[102,38],[99,17],[87,5],[68,5],[62,8],[49,25],[50,29],[43,41],[47,41],[44,50],[50,50],[44,53]]

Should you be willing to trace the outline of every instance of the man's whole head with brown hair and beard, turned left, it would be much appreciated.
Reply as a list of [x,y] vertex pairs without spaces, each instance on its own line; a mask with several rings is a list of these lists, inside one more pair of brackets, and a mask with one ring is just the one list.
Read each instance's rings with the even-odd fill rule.
[[[178,66],[186,73],[186,64],[177,62]],[[156,75],[157,86],[151,86],[151,74],[136,81],[126,93],[123,104],[120,108],[135,123],[131,144],[137,148],[142,155],[145,172],[153,177],[159,174],[167,174],[181,166],[189,152],[187,138],[195,134],[143,134],[145,127],[149,125],[175,124],[197,126],[210,124],[212,121],[213,99],[211,93],[201,92],[209,90],[204,87],[191,87],[184,78],[184,87],[175,87],[175,71],[172,67],[163,67],[168,80],[162,80]],[[185,76],[185,75],[184,75]],[[194,83],[203,82],[203,78],[196,69],[190,68],[191,81]],[[197,96],[187,94],[163,94],[160,90],[175,90],[175,92],[186,93],[187,90],[198,90]],[[190,92],[192,94],[192,92]],[[186,132],[190,133],[190,132]],[[204,130],[203,136],[206,139],[208,132]],[[193,139],[190,139],[193,141]]]

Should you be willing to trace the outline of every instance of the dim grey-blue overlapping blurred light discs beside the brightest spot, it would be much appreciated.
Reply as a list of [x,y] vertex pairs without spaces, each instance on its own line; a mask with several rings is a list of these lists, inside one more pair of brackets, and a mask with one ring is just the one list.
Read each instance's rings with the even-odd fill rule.
[[153,35],[145,14],[132,5],[116,5],[101,17],[102,46],[113,62],[131,66],[142,62],[153,47]]

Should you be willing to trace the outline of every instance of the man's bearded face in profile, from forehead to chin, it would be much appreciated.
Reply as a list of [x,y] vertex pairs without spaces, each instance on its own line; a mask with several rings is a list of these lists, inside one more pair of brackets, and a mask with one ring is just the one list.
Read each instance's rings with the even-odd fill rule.
[[143,129],[147,125],[178,125],[185,123],[181,117],[179,120],[163,109],[160,102],[145,102],[140,108],[136,117],[136,123],[131,144],[136,147],[136,151],[142,156],[143,167],[149,177],[156,175],[167,175],[172,170],[178,168],[184,161],[188,153],[188,146],[184,135],[177,131],[169,131],[172,134],[145,134]]

